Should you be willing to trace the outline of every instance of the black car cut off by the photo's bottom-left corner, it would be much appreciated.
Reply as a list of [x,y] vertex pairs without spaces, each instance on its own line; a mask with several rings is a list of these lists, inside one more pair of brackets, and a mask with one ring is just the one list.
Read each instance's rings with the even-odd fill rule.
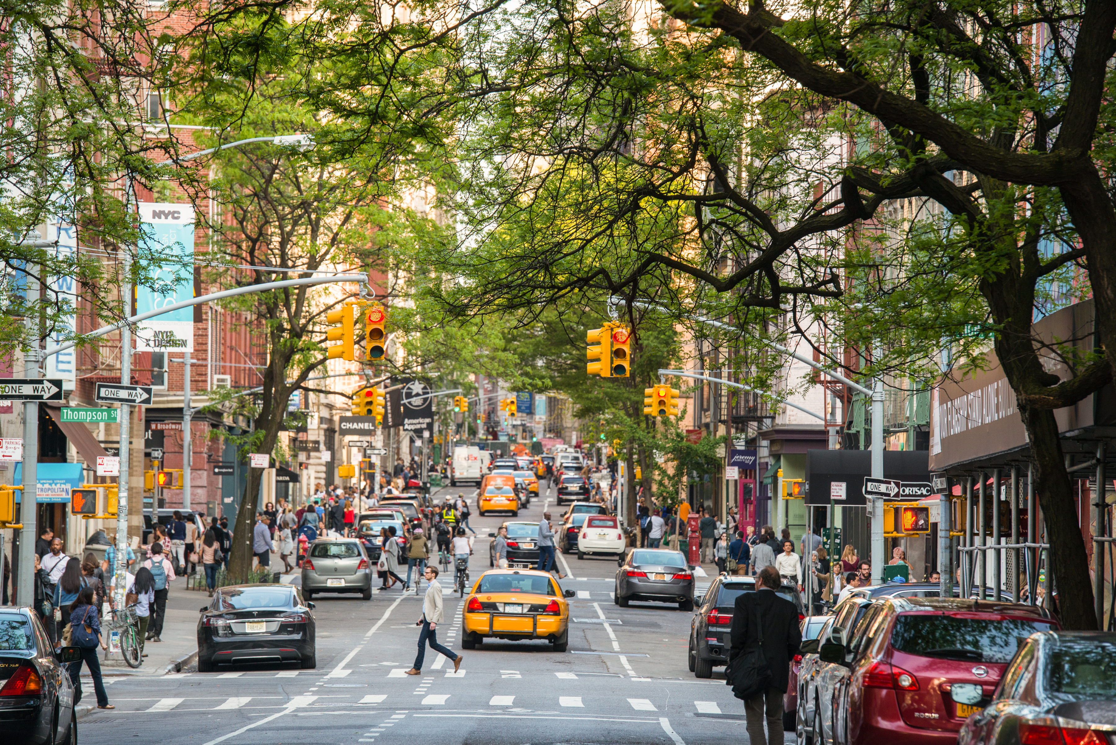
[[0,732],[4,742],[77,745],[74,685],[67,662],[77,647],[57,655],[29,608],[0,609]]

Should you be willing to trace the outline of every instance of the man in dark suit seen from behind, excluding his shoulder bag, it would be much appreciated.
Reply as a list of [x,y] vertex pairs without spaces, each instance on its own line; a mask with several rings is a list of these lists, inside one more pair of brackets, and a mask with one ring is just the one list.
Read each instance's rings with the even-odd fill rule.
[[[744,702],[748,717],[748,739],[751,745],[782,745],[782,695],[787,693],[790,660],[799,654],[802,632],[798,628],[798,609],[791,601],[776,594],[781,578],[775,567],[764,567],[756,578],[756,592],[737,598],[732,613],[732,657],[756,649],[759,633],[756,618],[763,631],[763,656],[771,666],[771,685],[767,691]],[[763,738],[763,718],[768,736]]]

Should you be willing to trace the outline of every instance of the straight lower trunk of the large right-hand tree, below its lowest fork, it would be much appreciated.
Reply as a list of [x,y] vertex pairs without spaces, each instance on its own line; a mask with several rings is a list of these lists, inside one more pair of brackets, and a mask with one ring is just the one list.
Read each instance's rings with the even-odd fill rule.
[[[1095,630],[1093,586],[1085,539],[1074,509],[1072,484],[1061,454],[1058,423],[1050,409],[1020,406],[1035,464],[1035,493],[1038,495],[1046,538],[1050,544],[1050,567],[1058,592],[1058,613],[1062,627]],[[994,501],[993,501],[994,503]]]

